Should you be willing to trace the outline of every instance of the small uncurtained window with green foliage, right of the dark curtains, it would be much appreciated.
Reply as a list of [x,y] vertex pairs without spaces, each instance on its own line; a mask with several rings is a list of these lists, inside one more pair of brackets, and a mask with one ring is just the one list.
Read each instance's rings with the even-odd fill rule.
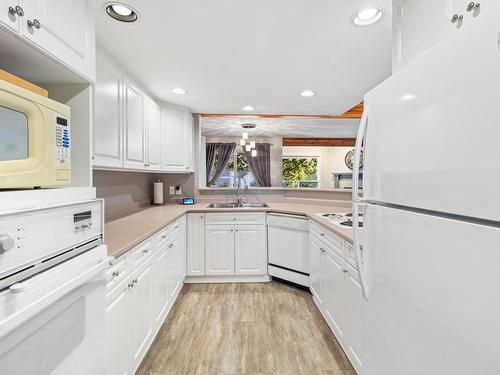
[[283,157],[283,186],[319,188],[319,158]]

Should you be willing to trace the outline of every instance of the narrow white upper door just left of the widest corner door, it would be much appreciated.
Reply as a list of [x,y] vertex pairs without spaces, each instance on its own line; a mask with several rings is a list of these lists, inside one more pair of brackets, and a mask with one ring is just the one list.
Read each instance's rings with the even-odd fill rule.
[[161,113],[160,107],[150,98],[146,99],[146,151],[149,169],[161,167]]

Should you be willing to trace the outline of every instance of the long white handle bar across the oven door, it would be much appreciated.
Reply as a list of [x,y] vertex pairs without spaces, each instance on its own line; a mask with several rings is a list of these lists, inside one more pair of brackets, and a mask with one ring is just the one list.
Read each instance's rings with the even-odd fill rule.
[[[95,279],[100,273],[102,273],[109,263],[108,259],[100,260],[98,264],[87,269],[86,271],[78,274],[71,280],[68,280],[66,283],[54,288],[50,293],[35,299],[31,304],[26,306],[24,309],[8,316],[5,320],[0,321],[0,339],[4,337],[6,334],[14,330],[16,327],[19,327],[30,319],[32,316],[41,312],[48,306],[55,303],[59,298],[64,296],[66,293],[75,290],[81,285],[86,284],[92,279]],[[36,277],[17,284],[13,284],[9,290],[14,293],[23,293],[24,291],[28,291],[28,286],[31,283],[36,282]]]

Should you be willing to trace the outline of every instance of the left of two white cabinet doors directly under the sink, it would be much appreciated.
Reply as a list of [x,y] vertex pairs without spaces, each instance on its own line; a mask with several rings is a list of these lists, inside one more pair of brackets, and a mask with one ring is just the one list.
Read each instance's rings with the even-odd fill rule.
[[234,226],[205,227],[205,274],[234,275]]

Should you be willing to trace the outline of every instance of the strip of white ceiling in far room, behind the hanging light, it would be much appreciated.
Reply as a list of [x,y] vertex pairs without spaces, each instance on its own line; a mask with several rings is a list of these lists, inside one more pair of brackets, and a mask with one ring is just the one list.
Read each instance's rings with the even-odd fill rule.
[[[243,130],[241,124],[256,124],[253,130]],[[248,131],[252,137],[355,138],[359,120],[352,119],[201,119],[201,134],[207,137],[241,137]]]

